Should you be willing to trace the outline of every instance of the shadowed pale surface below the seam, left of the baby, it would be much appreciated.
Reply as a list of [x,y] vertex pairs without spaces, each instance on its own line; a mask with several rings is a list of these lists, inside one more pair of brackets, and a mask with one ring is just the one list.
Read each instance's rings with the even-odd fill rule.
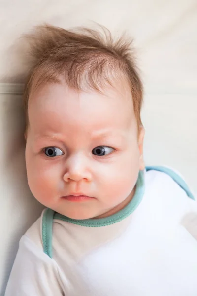
[[[9,85],[6,86],[9,91]],[[0,94],[1,126],[1,254],[0,295],[15,259],[21,236],[40,216],[43,206],[32,196],[25,168],[24,114],[19,94]]]

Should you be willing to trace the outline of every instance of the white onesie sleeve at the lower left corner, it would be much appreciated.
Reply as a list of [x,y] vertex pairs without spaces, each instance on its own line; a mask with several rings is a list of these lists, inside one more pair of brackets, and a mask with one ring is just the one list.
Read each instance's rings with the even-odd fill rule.
[[63,296],[57,263],[26,235],[12,267],[5,296]]

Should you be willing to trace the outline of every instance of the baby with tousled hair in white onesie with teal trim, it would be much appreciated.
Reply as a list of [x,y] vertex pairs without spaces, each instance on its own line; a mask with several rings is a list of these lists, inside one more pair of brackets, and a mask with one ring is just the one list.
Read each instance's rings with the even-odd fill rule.
[[197,296],[197,203],[179,174],[145,167],[131,42],[103,35],[28,36],[26,167],[46,209],[6,296]]

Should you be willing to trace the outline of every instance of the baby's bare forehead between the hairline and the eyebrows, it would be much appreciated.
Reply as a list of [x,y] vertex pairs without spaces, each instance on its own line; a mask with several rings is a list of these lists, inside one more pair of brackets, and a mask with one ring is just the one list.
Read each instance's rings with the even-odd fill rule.
[[47,84],[32,95],[29,105],[30,125],[46,129],[119,129],[133,119],[131,93],[120,86],[79,92],[63,84]]

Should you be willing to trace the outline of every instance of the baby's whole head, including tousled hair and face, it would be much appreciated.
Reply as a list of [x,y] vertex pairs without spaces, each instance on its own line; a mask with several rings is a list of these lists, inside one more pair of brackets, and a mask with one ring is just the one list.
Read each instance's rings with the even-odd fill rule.
[[73,219],[118,212],[144,169],[142,84],[131,42],[52,26],[29,40],[26,166],[34,197]]

